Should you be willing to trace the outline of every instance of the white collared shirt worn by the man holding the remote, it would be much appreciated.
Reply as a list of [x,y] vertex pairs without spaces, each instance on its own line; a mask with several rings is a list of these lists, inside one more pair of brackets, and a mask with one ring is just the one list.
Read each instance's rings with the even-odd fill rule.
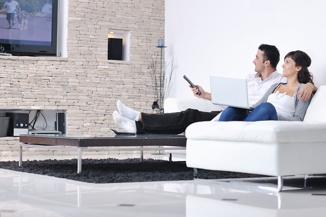
[[277,83],[287,83],[286,77],[282,77],[278,71],[271,73],[269,77],[264,80],[261,80],[259,75],[260,73],[257,72],[247,76],[249,106],[258,102],[272,85]]

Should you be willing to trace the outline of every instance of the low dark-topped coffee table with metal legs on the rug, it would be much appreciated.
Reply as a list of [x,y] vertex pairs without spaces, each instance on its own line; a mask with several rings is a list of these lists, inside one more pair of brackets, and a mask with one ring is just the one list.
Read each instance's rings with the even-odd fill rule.
[[[19,142],[19,167],[22,165],[22,148],[37,147],[51,150],[77,151],[77,173],[82,172],[83,151],[141,151],[140,160],[142,161],[144,151],[184,150],[186,146],[186,138],[184,135],[168,134],[132,134],[112,135],[108,137],[73,137],[67,134],[31,134],[19,135]],[[170,147],[166,148],[160,146]]]

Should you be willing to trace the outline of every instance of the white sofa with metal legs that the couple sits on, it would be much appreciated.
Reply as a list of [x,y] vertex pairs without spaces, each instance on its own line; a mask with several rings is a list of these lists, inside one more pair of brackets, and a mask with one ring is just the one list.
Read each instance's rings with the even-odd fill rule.
[[[278,176],[277,191],[282,189],[283,176],[326,174],[325,99],[326,86],[321,86],[303,122],[205,121],[191,124],[185,131],[186,164],[192,168]],[[192,108],[196,100],[203,101],[167,100],[174,104],[187,103],[186,106],[192,105],[189,106]],[[209,105],[204,110],[203,104],[200,102],[199,110],[212,109]],[[178,106],[180,110],[185,109]],[[216,108],[212,110],[219,110]]]

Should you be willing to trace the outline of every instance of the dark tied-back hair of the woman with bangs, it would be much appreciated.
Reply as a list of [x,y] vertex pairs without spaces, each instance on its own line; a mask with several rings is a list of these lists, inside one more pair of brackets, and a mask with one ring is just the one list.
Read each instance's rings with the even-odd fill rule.
[[314,84],[313,76],[308,70],[308,67],[311,64],[311,59],[307,55],[307,53],[305,53],[304,51],[301,51],[301,50],[295,50],[295,51],[291,51],[287,55],[285,55],[284,60],[285,60],[285,58],[288,58],[288,57],[291,58],[292,60],[294,60],[295,66],[302,67],[302,69],[297,73],[298,82],[303,83],[303,84],[310,82],[310,83]]

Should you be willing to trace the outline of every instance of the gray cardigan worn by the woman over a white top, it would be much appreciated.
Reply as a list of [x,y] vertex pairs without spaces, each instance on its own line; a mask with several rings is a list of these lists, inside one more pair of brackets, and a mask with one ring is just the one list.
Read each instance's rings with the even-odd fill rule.
[[[266,102],[267,98],[270,94],[272,94],[274,92],[274,90],[280,85],[280,84],[284,84],[284,83],[279,83],[279,84],[275,84],[272,85],[267,92],[265,93],[265,95],[256,103],[252,106],[252,108],[257,107],[257,105]],[[307,112],[307,108],[310,104],[312,95],[310,96],[310,98],[306,101],[302,101],[298,98],[297,92],[304,86],[305,84],[301,84],[295,91],[294,93],[294,102],[295,102],[295,111],[294,111],[294,115],[293,117],[286,117],[283,115],[277,115],[279,121],[303,121]]]

